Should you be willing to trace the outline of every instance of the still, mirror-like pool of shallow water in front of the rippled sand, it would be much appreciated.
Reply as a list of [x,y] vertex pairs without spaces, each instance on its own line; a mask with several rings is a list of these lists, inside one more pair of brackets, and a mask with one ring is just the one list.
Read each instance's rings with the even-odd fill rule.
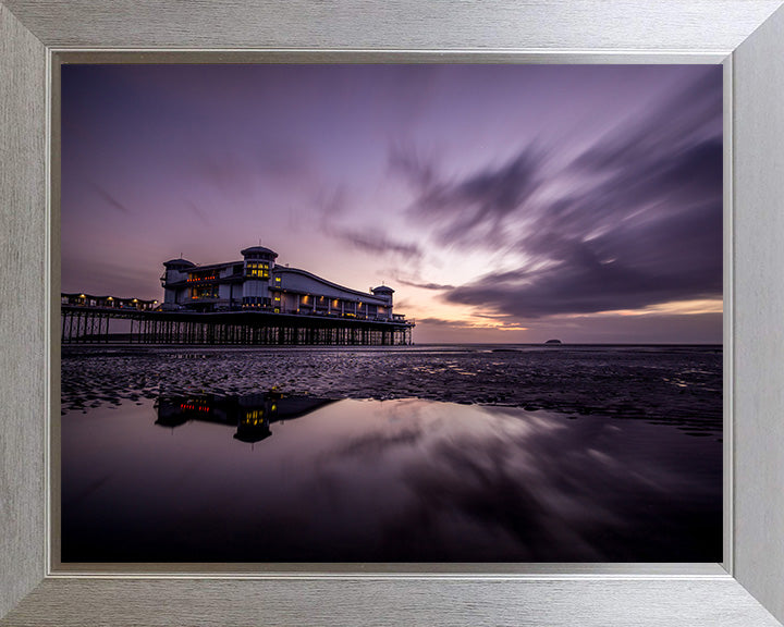
[[63,562],[722,560],[711,429],[142,391],[61,418]]

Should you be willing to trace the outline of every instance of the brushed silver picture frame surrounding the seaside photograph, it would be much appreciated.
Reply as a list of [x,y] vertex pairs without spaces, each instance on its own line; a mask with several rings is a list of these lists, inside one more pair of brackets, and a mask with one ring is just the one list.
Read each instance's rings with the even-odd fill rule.
[[[780,625],[782,4],[0,0],[0,625]],[[53,568],[49,503],[58,454],[49,418],[59,402],[52,344],[59,303],[50,296],[59,288],[59,216],[51,207],[59,162],[51,150],[52,75],[63,54],[126,52],[205,61],[245,53],[290,61],[722,63],[724,562]]]

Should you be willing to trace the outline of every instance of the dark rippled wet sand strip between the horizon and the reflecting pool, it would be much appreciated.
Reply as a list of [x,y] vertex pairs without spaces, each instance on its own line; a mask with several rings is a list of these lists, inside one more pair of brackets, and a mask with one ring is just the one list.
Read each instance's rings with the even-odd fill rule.
[[69,346],[62,413],[272,388],[329,398],[422,398],[602,415],[721,437],[720,346]]

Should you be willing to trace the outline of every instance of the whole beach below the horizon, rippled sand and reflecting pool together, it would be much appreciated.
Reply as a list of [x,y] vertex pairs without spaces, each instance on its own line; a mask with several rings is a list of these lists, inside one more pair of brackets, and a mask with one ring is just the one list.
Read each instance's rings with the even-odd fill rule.
[[64,563],[721,562],[716,346],[69,347]]

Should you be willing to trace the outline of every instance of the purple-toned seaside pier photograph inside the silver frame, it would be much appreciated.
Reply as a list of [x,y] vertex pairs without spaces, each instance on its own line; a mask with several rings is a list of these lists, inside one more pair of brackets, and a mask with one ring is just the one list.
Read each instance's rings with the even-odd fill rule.
[[722,562],[723,89],[62,64],[56,560]]

